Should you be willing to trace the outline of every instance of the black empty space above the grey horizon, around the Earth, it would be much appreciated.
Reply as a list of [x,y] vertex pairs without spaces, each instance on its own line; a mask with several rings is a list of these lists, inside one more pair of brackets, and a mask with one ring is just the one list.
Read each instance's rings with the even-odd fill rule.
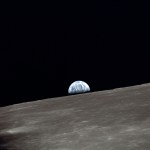
[[69,5],[2,13],[0,106],[66,96],[75,80],[92,92],[150,82],[144,1]]

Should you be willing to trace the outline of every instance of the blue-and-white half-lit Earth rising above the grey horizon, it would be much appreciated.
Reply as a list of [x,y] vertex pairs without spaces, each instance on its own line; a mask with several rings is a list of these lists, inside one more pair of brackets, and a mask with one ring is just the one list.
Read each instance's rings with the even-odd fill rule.
[[88,86],[87,83],[83,81],[75,81],[70,85],[68,89],[68,94],[85,93],[89,91],[90,87]]

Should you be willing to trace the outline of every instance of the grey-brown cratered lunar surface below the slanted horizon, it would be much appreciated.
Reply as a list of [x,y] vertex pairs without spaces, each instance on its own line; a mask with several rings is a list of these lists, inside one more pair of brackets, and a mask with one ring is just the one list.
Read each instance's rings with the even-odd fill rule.
[[0,150],[149,150],[150,84],[0,108]]

